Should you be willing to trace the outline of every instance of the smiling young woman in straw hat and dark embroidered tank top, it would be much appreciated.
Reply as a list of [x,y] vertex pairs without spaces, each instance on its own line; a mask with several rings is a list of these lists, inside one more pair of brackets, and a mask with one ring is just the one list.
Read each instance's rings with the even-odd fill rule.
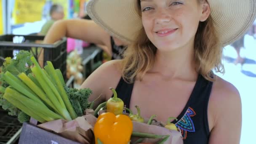
[[130,44],[81,88],[92,89],[90,100],[102,94],[97,104],[112,87],[143,117],[177,117],[184,144],[239,144],[240,94],[212,69],[224,72],[222,48],[245,34],[255,10],[256,0],[91,0],[88,15]]

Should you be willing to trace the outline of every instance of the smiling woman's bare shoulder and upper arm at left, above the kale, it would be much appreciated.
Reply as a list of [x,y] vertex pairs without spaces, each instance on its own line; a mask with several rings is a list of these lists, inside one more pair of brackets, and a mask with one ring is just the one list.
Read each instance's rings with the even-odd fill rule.
[[[109,88],[116,88],[121,77],[121,60],[107,61],[97,68],[81,85],[81,88],[90,88],[93,92],[89,100],[99,95],[107,99],[112,95]],[[102,101],[104,99],[101,99]]]

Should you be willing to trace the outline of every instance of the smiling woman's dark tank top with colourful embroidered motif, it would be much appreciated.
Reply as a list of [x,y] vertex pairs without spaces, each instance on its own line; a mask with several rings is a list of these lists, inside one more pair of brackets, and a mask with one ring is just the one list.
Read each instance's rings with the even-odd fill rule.
[[[198,75],[194,89],[177,121],[173,123],[181,129],[184,144],[208,144],[208,101],[213,83]],[[130,107],[133,83],[126,83],[120,79],[116,91],[120,99],[124,101],[125,107]]]

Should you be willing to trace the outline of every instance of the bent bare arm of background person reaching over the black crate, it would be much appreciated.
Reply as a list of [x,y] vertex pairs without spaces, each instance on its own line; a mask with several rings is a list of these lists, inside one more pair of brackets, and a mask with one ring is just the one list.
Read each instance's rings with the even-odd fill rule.
[[107,46],[110,41],[110,35],[104,29],[94,21],[85,19],[56,21],[45,35],[44,43],[54,43],[62,37],[71,37],[88,43]]

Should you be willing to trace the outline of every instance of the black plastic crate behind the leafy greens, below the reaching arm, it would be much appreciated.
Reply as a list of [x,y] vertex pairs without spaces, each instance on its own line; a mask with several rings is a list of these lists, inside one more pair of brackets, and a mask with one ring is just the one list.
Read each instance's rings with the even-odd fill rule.
[[44,36],[37,35],[1,35],[0,36],[0,66],[3,65],[5,57],[13,57],[15,50],[30,51],[37,59],[43,48],[44,65],[51,61],[55,69],[60,69],[63,77],[66,77],[67,40],[62,39],[54,44],[36,43],[43,40]]

